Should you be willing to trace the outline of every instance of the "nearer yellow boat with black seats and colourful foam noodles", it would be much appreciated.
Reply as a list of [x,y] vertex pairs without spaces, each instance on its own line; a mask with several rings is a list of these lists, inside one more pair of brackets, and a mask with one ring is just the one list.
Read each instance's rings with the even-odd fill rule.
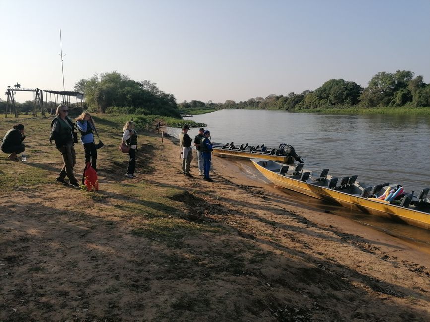
[[347,176],[340,180],[328,175],[328,169],[318,174],[303,169],[303,164],[288,166],[275,161],[254,158],[255,167],[277,186],[302,194],[326,200],[335,204],[402,221],[412,226],[430,229],[429,188],[417,196],[404,194],[399,200],[377,199],[388,186],[395,190],[398,185],[382,183],[370,186],[356,181],[357,176]]

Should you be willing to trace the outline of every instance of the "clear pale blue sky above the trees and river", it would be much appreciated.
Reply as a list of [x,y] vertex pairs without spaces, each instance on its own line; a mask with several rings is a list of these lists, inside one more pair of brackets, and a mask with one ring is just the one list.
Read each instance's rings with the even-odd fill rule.
[[[430,0],[0,0],[0,98],[22,88],[73,91],[117,71],[177,102],[236,102],[366,87],[410,70],[430,83]],[[18,102],[33,94],[17,92]]]

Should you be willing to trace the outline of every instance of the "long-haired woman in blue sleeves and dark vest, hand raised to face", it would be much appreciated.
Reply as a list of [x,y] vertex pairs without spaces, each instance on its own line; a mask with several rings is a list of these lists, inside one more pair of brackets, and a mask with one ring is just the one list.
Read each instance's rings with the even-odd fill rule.
[[91,166],[97,171],[97,149],[94,144],[93,131],[96,129],[90,113],[83,112],[76,118],[76,126],[81,132],[81,142],[85,151],[85,163],[91,162]]

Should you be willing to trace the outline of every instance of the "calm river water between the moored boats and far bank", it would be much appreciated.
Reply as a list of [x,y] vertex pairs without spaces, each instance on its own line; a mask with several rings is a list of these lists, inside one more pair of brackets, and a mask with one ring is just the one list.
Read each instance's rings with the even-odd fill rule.
[[[328,168],[329,173],[337,177],[356,174],[358,181],[371,185],[397,183],[408,192],[414,190],[415,195],[430,187],[430,116],[321,115],[227,109],[194,115],[190,119],[207,124],[205,128],[210,130],[213,142],[266,146],[291,144],[302,156],[308,170]],[[180,130],[167,128],[167,132],[178,137]],[[194,138],[197,129],[191,129],[188,134]],[[252,171],[258,172],[246,162],[243,169],[248,175],[253,175]],[[381,224],[373,216],[342,209],[338,209],[345,213],[342,215],[352,219],[359,217],[366,224],[396,235],[415,239],[418,234],[419,240],[430,245],[427,231],[388,221]]]

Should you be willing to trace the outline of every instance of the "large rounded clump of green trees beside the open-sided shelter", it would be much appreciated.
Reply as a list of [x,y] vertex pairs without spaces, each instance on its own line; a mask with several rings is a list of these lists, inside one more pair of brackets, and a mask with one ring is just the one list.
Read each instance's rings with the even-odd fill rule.
[[156,85],[149,80],[137,82],[114,71],[81,79],[74,89],[85,95],[90,109],[100,113],[128,112],[179,118],[175,96]]

